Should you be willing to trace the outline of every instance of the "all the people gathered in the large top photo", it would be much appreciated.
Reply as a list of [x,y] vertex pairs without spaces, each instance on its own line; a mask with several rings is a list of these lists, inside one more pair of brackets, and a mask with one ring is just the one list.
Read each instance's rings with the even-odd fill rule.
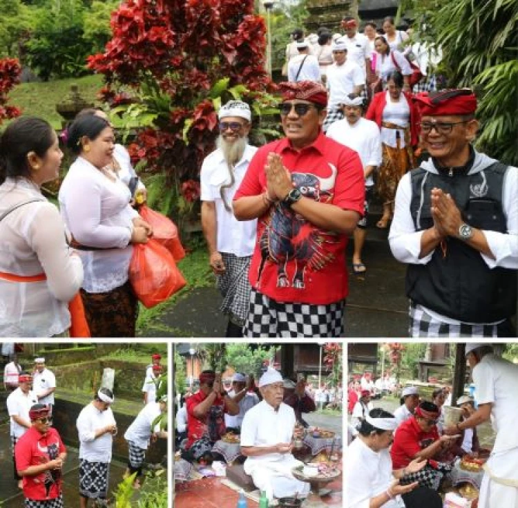
[[[347,241],[353,272],[366,272],[376,195],[376,226],[390,227],[392,253],[407,264],[409,335],[514,337],[517,169],[474,149],[470,89],[416,93],[412,40],[393,19],[384,35],[374,23],[361,34],[351,17],[342,26],[340,37],[320,30],[318,48],[294,32],[290,81],[278,86],[284,138],[252,147],[249,104],[217,112],[201,220],[227,337],[343,337]],[[153,228],[131,204],[146,189],[102,111],[81,111],[66,137],[76,158],[59,214],[41,194],[63,157],[50,125],[21,117],[1,135],[0,329],[68,336],[82,312],[92,337],[134,337],[128,267]]]

